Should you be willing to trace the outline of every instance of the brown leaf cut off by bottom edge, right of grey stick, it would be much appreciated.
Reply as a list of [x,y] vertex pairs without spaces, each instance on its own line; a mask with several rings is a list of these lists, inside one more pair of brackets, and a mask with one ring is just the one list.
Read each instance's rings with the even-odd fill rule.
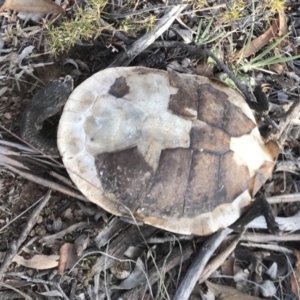
[[262,300],[258,297],[253,297],[244,293],[239,292],[238,290],[226,286],[215,284],[210,281],[205,281],[208,289],[216,296],[218,299],[226,299],[226,300]]

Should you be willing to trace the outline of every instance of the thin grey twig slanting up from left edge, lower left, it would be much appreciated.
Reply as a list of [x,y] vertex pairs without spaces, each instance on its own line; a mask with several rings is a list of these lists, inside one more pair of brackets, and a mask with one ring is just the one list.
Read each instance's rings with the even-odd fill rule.
[[0,280],[2,279],[6,269],[11,264],[13,258],[16,256],[19,248],[24,243],[25,239],[27,238],[28,234],[32,230],[33,226],[37,222],[37,218],[41,212],[41,210],[45,207],[49,199],[51,198],[51,191],[49,190],[46,195],[44,196],[44,199],[38,204],[38,206],[34,209],[31,216],[29,217],[29,220],[23,229],[21,235],[19,236],[17,241],[13,241],[10,245],[10,251],[8,251],[5,255],[5,258],[0,266]]

